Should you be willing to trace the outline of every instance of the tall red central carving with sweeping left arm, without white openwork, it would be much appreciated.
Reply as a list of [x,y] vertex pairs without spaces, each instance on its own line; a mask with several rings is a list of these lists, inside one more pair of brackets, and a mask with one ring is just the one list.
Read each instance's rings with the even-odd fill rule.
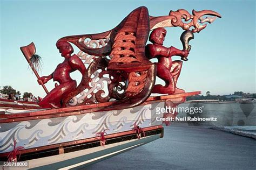
[[[124,109],[141,104],[150,96],[156,77],[156,66],[145,56],[149,31],[149,12],[143,6],[132,11],[109,32],[60,39],[72,42],[87,54],[110,57],[110,60],[105,60],[106,65],[102,69],[111,77],[108,86],[110,95],[103,99],[100,95],[93,94],[89,101],[85,99],[86,103],[109,101],[113,98],[118,102],[112,105],[111,109]],[[109,41],[106,46],[91,48],[85,45],[86,38],[93,40],[109,38]],[[120,85],[121,83],[124,85]],[[123,93],[120,94],[117,90],[123,90]]]

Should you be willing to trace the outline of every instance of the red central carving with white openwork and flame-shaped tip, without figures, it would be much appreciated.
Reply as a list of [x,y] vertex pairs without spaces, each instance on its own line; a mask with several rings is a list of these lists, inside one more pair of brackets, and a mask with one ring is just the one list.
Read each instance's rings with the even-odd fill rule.
[[204,23],[212,23],[216,17],[221,16],[211,10],[193,10],[191,15],[184,9],[170,11],[168,16],[152,17],[145,6],[140,6],[109,31],[61,38],[80,49],[77,55],[87,69],[82,86],[72,93],[76,96],[70,97],[72,100],[69,98],[69,104],[119,100],[111,109],[123,109],[145,102],[157,73],[156,65],[145,55],[150,30],[181,27],[200,32],[206,27]]

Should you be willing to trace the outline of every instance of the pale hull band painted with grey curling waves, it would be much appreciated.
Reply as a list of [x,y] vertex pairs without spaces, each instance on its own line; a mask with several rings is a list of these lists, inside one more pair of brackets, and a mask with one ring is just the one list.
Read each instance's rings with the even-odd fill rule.
[[134,122],[141,128],[161,125],[155,121],[157,107],[164,107],[164,102],[124,110],[3,123],[0,153],[12,151],[14,139],[16,146],[28,149],[96,137],[96,133],[104,129],[109,129],[107,134],[129,131]]

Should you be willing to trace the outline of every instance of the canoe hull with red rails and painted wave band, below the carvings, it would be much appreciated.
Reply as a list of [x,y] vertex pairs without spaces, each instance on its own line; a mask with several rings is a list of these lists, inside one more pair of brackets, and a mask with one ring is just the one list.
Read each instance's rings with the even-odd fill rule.
[[[156,109],[165,107],[166,101],[184,102],[186,96],[199,93],[154,96],[142,105],[123,110],[104,111],[112,104],[107,102],[2,115],[0,160],[8,159],[16,141],[17,147],[25,148],[18,161],[29,161],[29,168],[90,165],[163,137],[163,122],[156,117],[164,114],[157,115]],[[140,129],[140,139],[134,124]],[[97,134],[104,130],[106,144],[101,146]]]

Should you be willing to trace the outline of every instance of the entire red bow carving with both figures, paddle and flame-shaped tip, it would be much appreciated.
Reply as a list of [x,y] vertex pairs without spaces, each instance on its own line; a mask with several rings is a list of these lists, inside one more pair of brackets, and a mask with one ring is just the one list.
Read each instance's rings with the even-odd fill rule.
[[[109,31],[60,38],[56,45],[65,59],[52,74],[39,77],[31,66],[39,84],[43,85],[51,79],[59,83],[39,105],[43,108],[59,108],[116,100],[109,109],[124,109],[142,104],[151,93],[183,93],[184,90],[176,87],[182,61],[172,61],[171,57],[178,55],[186,61],[190,49],[189,40],[183,50],[164,47],[166,31],[162,27],[181,27],[187,31],[194,27],[192,32],[200,32],[206,24],[200,25],[198,21],[201,24],[212,23],[215,19],[203,18],[205,15],[220,17],[217,12],[210,10],[193,11],[193,15],[186,10],[178,10],[171,11],[169,16],[151,17],[147,8],[141,6]],[[191,22],[188,22],[189,20]],[[150,30],[153,30],[150,35],[153,44],[146,46]],[[71,44],[80,49],[78,55],[72,55]],[[35,46],[29,45],[21,49],[26,60],[31,63],[31,56],[36,56]],[[89,59],[86,59],[87,56],[90,56]],[[152,63],[152,58],[157,58],[158,62]],[[85,67],[85,64],[88,67]],[[70,77],[70,73],[75,70],[79,70],[83,75],[78,86]],[[163,79],[166,86],[154,86],[156,76]],[[96,77],[102,80],[99,84]],[[107,81],[106,89],[109,93],[104,97],[103,81]],[[45,86],[43,87],[48,93]],[[81,96],[78,98],[79,95]]]

